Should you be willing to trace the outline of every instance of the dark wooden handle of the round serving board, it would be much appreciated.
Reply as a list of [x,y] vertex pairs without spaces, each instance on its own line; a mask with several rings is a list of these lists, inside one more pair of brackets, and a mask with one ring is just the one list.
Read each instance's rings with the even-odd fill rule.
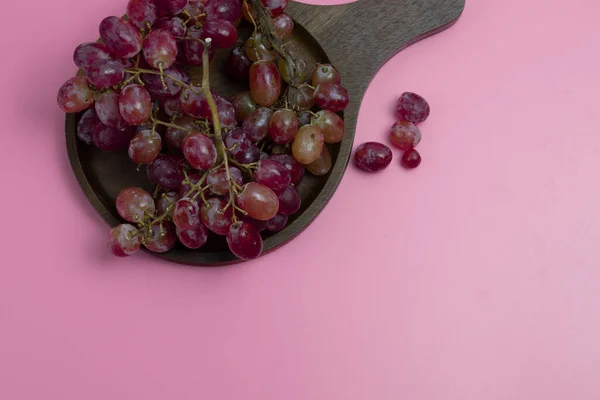
[[451,26],[465,0],[358,0],[336,6],[291,2],[288,12],[323,47],[350,92],[344,113],[354,130],[362,97],[394,54]]

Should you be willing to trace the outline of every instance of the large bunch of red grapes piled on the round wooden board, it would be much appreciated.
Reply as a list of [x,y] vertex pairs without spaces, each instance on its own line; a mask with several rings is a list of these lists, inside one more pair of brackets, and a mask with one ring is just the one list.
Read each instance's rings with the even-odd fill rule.
[[[299,211],[305,171],[329,172],[327,144],[343,139],[350,98],[335,67],[309,68],[284,42],[288,1],[129,0],[127,18],[101,22],[101,42],[77,47],[83,74],[60,88],[59,106],[82,113],[79,140],[127,149],[156,185],[118,195],[127,222],[109,235],[113,254],[164,253],[178,241],[199,249],[212,231],[238,258],[256,258],[261,232],[281,231]],[[254,28],[245,42],[242,24]],[[214,51],[230,52],[224,65],[210,64]],[[219,96],[212,68],[249,90]]]

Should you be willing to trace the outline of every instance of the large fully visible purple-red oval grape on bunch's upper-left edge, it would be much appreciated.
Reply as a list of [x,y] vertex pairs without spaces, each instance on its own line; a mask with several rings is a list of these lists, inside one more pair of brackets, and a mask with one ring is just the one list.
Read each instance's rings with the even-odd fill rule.
[[117,57],[132,58],[142,50],[140,32],[131,23],[117,17],[106,17],[102,20],[100,37]]

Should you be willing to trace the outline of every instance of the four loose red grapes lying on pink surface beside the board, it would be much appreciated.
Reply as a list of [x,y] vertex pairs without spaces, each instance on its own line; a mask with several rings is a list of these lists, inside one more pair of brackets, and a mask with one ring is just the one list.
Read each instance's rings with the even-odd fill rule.
[[[429,117],[429,104],[418,94],[405,92],[398,99],[397,111],[400,120],[390,129],[390,142],[404,151],[401,162],[405,168],[417,168],[421,164],[421,155],[415,147],[421,142],[422,135],[416,124]],[[362,143],[354,153],[355,165],[366,172],[387,168],[392,158],[392,150],[379,142]]]

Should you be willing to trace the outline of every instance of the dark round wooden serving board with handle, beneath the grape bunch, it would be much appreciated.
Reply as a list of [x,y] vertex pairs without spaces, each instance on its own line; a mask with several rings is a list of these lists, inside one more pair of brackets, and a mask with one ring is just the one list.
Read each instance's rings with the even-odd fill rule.
[[[460,16],[465,0],[358,0],[338,6],[314,6],[291,2],[286,12],[296,21],[292,45],[307,60],[331,62],[339,68],[343,85],[351,96],[344,112],[346,136],[330,146],[333,168],[323,177],[307,174],[299,191],[303,205],[289,225],[265,236],[264,253],[271,252],[300,234],[327,205],[347,167],[354,143],[358,110],[363,95],[379,68],[394,54],[427,36],[451,26]],[[230,96],[243,85],[226,79],[222,65],[227,54],[213,61],[211,85],[216,92]],[[144,168],[137,171],[125,151],[103,153],[76,139],[78,115],[67,115],[66,135],[69,158],[75,176],[94,208],[111,226],[121,223],[114,200],[120,190],[152,186]],[[211,236],[200,250],[178,245],[157,255],[166,260],[196,266],[220,266],[239,262],[227,249],[222,237]]]

